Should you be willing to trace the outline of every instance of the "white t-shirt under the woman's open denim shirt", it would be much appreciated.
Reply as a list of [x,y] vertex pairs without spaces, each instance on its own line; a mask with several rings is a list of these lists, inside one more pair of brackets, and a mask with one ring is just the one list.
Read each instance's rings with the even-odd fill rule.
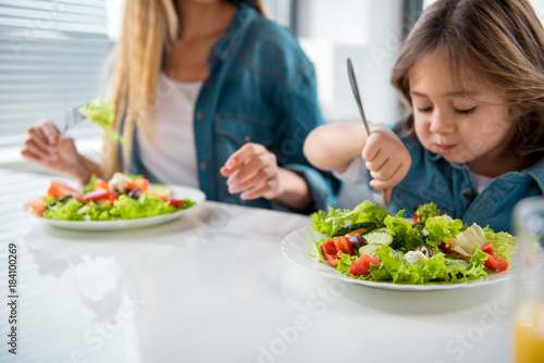
[[184,83],[159,74],[154,147],[138,129],[140,161],[161,183],[198,188],[194,113],[202,82]]

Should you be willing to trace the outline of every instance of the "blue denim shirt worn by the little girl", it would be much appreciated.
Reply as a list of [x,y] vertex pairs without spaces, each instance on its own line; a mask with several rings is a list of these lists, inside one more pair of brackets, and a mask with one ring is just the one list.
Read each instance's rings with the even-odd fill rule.
[[449,163],[429,152],[417,139],[401,140],[412,164],[403,182],[393,188],[387,206],[394,213],[404,209],[405,216],[412,216],[419,204],[434,202],[443,213],[468,225],[477,223],[495,231],[511,233],[514,205],[523,198],[543,195],[544,160],[494,178],[478,193],[467,165]]

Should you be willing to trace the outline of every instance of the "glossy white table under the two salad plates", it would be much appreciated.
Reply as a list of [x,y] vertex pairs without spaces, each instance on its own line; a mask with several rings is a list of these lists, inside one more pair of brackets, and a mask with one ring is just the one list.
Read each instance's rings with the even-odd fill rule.
[[280,250],[308,216],[217,202],[143,229],[52,228],[22,211],[50,179],[0,170],[0,362],[510,361],[512,280],[431,292],[337,281]]

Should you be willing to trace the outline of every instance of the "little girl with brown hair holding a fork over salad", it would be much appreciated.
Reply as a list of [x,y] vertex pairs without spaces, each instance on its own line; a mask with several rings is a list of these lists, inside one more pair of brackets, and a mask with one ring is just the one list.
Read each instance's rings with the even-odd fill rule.
[[543,47],[527,0],[438,0],[393,70],[409,115],[395,132],[371,125],[369,137],[359,123],[321,126],[305,154],[346,182],[372,177],[392,212],[435,202],[508,231],[514,205],[544,189]]

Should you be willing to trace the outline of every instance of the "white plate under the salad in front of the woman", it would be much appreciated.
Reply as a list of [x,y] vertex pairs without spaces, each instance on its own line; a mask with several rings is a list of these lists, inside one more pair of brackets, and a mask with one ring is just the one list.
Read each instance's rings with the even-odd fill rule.
[[206,195],[195,188],[176,186],[176,185],[168,185],[170,190],[173,192],[173,197],[175,199],[190,199],[196,202],[195,205],[174,212],[169,214],[161,214],[156,216],[148,216],[145,218],[135,218],[135,220],[120,220],[120,221],[57,221],[57,220],[48,220],[44,217],[36,216],[30,213],[30,208],[28,203],[25,203],[23,210],[30,215],[32,217],[38,218],[47,225],[66,229],[76,229],[76,230],[121,230],[121,229],[133,229],[140,227],[154,226],[161,223],[165,223],[177,218],[183,214],[191,213],[198,204],[201,204],[206,200]]

